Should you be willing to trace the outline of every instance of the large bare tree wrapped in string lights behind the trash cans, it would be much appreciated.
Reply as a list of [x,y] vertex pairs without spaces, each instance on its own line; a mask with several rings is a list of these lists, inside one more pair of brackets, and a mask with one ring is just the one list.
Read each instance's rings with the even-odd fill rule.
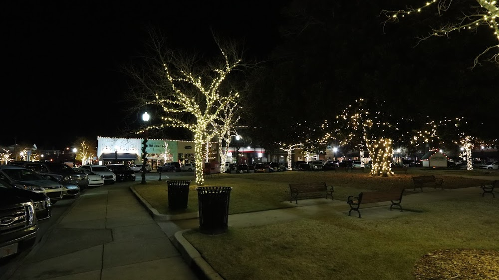
[[139,83],[133,88],[132,98],[140,101],[139,106],[155,106],[156,115],[162,115],[161,124],[146,129],[180,127],[194,134],[196,183],[203,185],[203,145],[215,136],[210,125],[228,104],[240,99],[238,91],[221,87],[241,66],[241,55],[235,45],[222,46],[215,40],[222,59],[209,62],[166,49],[160,36],[151,38],[154,56],[146,57],[143,70],[128,69]]

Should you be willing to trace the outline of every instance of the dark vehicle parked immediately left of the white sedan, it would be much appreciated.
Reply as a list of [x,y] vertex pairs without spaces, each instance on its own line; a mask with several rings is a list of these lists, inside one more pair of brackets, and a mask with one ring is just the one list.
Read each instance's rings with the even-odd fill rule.
[[17,161],[11,164],[31,169],[37,173],[53,174],[58,177],[57,179],[60,179],[61,182],[78,185],[80,189],[84,189],[88,186],[88,177],[85,174],[76,173],[71,167],[63,163]]

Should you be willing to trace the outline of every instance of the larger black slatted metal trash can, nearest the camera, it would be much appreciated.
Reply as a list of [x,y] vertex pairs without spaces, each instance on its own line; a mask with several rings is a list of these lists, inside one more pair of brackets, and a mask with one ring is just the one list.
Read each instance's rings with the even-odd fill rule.
[[232,187],[197,187],[199,229],[204,234],[227,232]]

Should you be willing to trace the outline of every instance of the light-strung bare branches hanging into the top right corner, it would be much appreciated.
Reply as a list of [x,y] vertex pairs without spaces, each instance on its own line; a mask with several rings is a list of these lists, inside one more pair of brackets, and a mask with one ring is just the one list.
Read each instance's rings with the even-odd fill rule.
[[[418,39],[420,41],[426,40],[430,37],[449,37],[451,33],[461,32],[461,31],[471,31],[477,32],[480,27],[487,26],[491,29],[491,33],[495,37],[496,44],[486,47],[486,49],[475,57],[474,65],[480,64],[480,58],[482,56],[487,56],[487,60],[494,61],[499,64],[499,4],[497,0],[487,1],[487,0],[474,0],[475,5],[453,3],[452,0],[429,0],[422,3],[421,6],[413,8],[407,7],[405,9],[399,10],[382,10],[381,14],[386,16],[387,22],[398,22],[401,17],[413,16],[421,14],[425,10],[434,8],[437,10],[439,16],[443,16],[444,13],[453,12],[451,17],[455,17],[454,21],[445,22],[438,27],[432,27],[432,31],[426,36],[421,36]],[[451,9],[451,5],[453,9]],[[491,38],[494,40],[494,37]]]

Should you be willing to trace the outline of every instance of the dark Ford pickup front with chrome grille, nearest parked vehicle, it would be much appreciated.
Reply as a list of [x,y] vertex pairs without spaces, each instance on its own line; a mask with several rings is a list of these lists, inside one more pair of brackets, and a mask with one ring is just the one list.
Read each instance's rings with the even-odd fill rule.
[[22,246],[31,247],[36,241],[38,221],[27,193],[30,192],[0,183],[0,259],[17,254]]

